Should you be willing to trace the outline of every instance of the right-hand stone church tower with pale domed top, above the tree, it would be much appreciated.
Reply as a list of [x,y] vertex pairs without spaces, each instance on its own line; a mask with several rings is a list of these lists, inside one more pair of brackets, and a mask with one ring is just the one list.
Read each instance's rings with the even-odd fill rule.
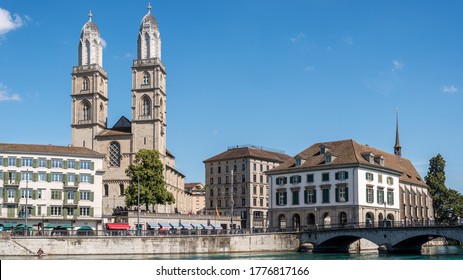
[[138,33],[137,59],[132,65],[132,134],[134,151],[158,150],[166,157],[166,71],[161,62],[161,34],[148,13]]

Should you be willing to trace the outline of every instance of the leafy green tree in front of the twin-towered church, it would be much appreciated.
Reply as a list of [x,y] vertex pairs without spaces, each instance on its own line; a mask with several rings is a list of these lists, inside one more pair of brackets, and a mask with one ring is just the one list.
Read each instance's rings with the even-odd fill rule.
[[175,202],[165,186],[164,164],[157,150],[140,150],[135,154],[134,164],[129,165],[125,173],[130,177],[130,185],[125,193],[127,206],[138,205],[139,190],[140,205],[145,205],[146,209],[150,205]]

